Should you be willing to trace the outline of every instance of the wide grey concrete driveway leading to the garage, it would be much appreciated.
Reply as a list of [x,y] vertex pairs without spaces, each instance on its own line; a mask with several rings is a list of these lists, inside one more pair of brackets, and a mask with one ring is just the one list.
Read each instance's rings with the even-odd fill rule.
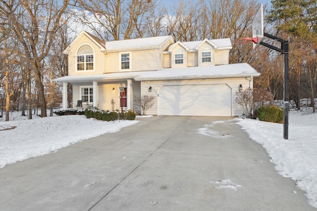
[[316,211],[234,118],[138,120],[0,169],[0,210]]

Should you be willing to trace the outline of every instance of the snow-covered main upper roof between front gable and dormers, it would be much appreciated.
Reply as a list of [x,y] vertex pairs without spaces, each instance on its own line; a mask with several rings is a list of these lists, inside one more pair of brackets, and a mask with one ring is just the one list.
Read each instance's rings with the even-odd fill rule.
[[106,42],[107,50],[127,49],[127,48],[139,48],[139,47],[151,47],[158,46],[169,39],[171,36],[160,36],[153,38],[139,38],[132,40],[110,41]]

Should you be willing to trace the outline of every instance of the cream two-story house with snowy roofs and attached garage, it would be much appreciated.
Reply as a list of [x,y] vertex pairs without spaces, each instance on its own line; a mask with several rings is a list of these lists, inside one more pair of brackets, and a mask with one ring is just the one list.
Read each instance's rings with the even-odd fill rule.
[[[253,88],[260,73],[246,63],[228,64],[230,39],[174,42],[171,36],[103,42],[83,31],[64,50],[68,76],[63,83],[63,109],[67,83],[73,84],[73,104],[104,110],[122,106],[138,113],[135,99],[155,96],[149,115],[239,116],[243,109],[235,92]],[[73,106],[75,108],[75,106]]]

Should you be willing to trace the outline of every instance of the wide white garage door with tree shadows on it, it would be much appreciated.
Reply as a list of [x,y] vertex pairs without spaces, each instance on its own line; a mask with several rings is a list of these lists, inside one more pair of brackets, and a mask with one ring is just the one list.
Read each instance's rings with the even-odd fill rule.
[[158,115],[232,116],[232,89],[227,84],[162,85],[158,94]]

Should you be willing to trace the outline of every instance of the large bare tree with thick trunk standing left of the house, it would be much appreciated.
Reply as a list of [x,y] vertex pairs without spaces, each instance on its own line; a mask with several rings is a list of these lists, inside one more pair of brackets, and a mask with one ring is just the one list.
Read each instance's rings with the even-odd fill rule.
[[12,0],[3,3],[4,10],[12,13],[15,3],[21,3],[23,16],[11,15],[14,25],[14,38],[21,42],[30,68],[34,71],[35,82],[39,91],[41,116],[46,117],[46,100],[43,85],[43,65],[45,57],[53,43],[54,33],[60,27],[60,18],[67,8],[69,0],[63,0],[61,6],[52,0]]

